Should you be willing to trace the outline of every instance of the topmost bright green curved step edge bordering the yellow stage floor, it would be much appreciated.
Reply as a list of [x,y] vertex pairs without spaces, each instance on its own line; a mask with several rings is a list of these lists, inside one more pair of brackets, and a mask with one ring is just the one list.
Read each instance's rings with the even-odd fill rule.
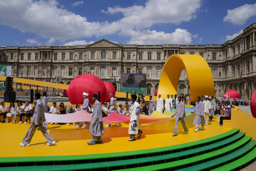
[[232,129],[223,134],[188,142],[184,144],[152,148],[152,149],[142,149],[139,151],[129,151],[129,152],[117,152],[117,153],[104,153],[104,154],[88,154],[88,155],[70,155],[70,156],[33,156],[33,157],[1,157],[0,163],[17,163],[17,162],[50,162],[50,161],[72,161],[72,160],[93,160],[93,159],[102,159],[102,158],[115,158],[115,157],[125,157],[125,156],[136,156],[143,154],[152,154],[152,153],[161,153],[166,151],[173,151],[176,149],[186,148],[194,145],[205,144],[211,141],[216,141],[227,136],[232,136],[237,134],[239,129]]

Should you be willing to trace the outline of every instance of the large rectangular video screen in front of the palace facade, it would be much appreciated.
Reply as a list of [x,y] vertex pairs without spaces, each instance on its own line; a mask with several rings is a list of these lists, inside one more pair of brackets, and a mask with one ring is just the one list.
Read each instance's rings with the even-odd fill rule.
[[146,74],[121,73],[121,88],[146,88]]

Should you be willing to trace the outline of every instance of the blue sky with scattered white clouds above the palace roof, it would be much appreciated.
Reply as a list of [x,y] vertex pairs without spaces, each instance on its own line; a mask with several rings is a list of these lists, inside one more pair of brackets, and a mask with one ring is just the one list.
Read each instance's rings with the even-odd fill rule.
[[255,0],[2,0],[0,47],[223,44],[252,23]]

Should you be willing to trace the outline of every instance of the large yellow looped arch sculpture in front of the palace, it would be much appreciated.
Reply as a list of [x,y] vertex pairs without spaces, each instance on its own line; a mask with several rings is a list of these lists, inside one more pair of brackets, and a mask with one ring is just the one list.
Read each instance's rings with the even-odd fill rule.
[[215,95],[214,78],[206,60],[200,55],[172,55],[163,67],[158,94],[163,98],[177,93],[179,78],[185,67],[190,86],[190,103],[195,103],[198,96]]

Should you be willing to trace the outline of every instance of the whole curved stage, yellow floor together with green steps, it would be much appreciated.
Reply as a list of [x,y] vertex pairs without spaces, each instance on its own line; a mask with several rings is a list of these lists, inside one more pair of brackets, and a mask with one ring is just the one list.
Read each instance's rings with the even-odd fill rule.
[[[47,146],[37,131],[31,146],[20,147],[29,124],[1,124],[5,137],[2,142],[8,145],[0,154],[0,170],[231,170],[254,161],[256,141],[251,138],[256,139],[254,135],[218,126],[216,116],[210,125],[205,125],[204,131],[195,133],[194,118],[195,114],[188,114],[185,117],[188,134],[184,135],[179,124],[175,137],[172,136],[175,120],[142,124],[143,133],[133,142],[128,141],[129,125],[113,124],[104,127],[103,144],[92,146],[87,145],[91,139],[89,130],[49,124],[55,145]],[[250,128],[255,130],[255,126]]]

